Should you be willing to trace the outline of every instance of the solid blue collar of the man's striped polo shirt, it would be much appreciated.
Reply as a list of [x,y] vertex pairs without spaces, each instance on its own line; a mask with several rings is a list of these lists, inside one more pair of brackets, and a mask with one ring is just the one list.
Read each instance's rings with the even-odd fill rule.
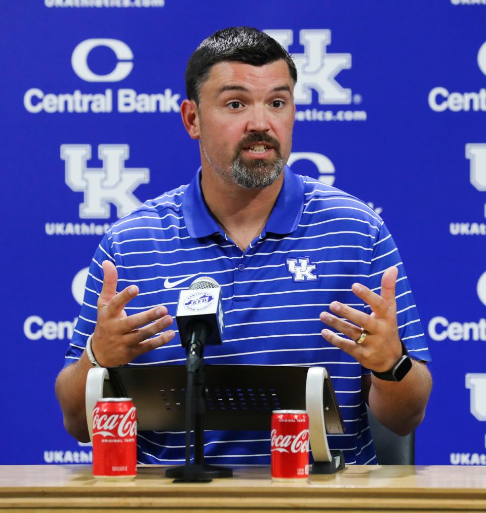
[[[303,183],[288,166],[283,171],[283,184],[278,193],[266,232],[291,233],[299,224],[303,209]],[[182,211],[187,231],[193,238],[202,238],[221,233],[221,229],[211,215],[201,189],[201,168],[187,187],[182,202]]]

